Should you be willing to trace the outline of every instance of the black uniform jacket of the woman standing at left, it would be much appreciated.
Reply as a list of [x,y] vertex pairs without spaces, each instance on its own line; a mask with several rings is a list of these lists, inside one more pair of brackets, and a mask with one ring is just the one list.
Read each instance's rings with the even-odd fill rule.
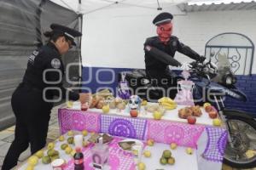
[[[33,51],[28,58],[27,68],[23,77],[23,83],[38,90],[44,88],[61,89],[61,98],[66,98],[67,89],[62,87],[64,66],[61,61],[61,54],[51,42]],[[60,96],[57,90],[48,90],[47,98]],[[79,99],[79,94],[68,91],[68,98]]]

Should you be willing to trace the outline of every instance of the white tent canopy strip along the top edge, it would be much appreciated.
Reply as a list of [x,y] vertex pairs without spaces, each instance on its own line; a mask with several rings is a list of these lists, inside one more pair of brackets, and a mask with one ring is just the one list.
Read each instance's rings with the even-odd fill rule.
[[[210,5],[210,4],[229,4],[229,3],[251,3],[255,0],[51,0],[65,8],[69,8],[78,14],[89,14],[96,10],[109,7],[119,7],[119,4],[149,8],[162,9],[170,6],[185,3],[188,5]],[[80,2],[80,3],[79,3]]]

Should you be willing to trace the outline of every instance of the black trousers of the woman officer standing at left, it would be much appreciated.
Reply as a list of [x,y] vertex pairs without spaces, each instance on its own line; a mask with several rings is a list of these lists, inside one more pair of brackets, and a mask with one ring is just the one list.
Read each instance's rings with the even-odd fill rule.
[[44,102],[42,92],[25,84],[16,88],[11,99],[15,113],[15,140],[3,161],[2,170],[17,165],[20,154],[30,144],[31,153],[41,150],[46,144],[52,104]]

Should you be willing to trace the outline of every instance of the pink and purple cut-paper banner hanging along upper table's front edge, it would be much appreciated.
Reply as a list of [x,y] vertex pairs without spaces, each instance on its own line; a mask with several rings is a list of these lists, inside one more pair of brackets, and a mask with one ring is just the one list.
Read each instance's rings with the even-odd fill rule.
[[207,161],[218,162],[223,160],[227,138],[227,132],[222,127],[103,115],[92,111],[59,109],[59,123],[62,134],[68,130],[86,129],[89,132],[110,133],[113,136],[143,140],[154,139],[160,143],[176,143],[193,148],[198,148],[197,144],[201,139],[201,134],[207,133],[206,139],[203,139],[206,146],[201,156]]

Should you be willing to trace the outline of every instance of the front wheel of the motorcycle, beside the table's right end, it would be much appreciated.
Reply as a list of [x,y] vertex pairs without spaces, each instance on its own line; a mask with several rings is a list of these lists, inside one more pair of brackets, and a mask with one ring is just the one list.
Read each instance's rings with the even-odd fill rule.
[[256,122],[242,117],[229,117],[230,142],[226,145],[224,163],[230,167],[256,167]]

